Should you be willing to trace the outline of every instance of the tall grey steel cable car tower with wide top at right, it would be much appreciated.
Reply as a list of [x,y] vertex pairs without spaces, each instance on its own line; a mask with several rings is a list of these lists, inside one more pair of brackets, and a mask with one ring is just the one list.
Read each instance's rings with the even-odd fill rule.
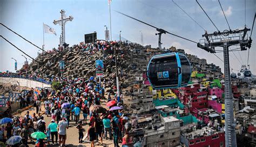
[[224,74],[225,74],[225,145],[237,146],[237,138],[235,134],[235,122],[233,111],[233,96],[231,89],[230,77],[230,60],[228,47],[239,45],[241,50],[251,47],[252,39],[247,37],[248,28],[242,30],[225,30],[223,32],[214,32],[202,35],[206,39],[201,39],[197,47],[210,53],[216,53],[215,47],[223,47],[224,52]]

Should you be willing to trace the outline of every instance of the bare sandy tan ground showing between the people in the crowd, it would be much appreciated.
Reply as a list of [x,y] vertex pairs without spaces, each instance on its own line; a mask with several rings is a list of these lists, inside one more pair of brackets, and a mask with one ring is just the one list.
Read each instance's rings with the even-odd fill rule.
[[[105,102],[102,102],[102,105],[105,106]],[[33,107],[32,107],[33,108]],[[35,109],[29,109],[28,111],[30,111],[30,115],[32,115],[33,113],[35,113]],[[44,111],[44,107],[42,106],[42,111]],[[22,112],[21,114],[17,114],[16,116],[25,116],[26,111]],[[44,120],[46,122],[46,127],[48,126],[48,124],[51,122],[51,117],[47,117],[46,115],[44,116]],[[83,114],[80,114],[80,120],[83,119]],[[87,122],[89,122],[89,116],[87,117]],[[76,124],[74,121],[70,122],[70,127],[67,130],[67,139],[66,139],[66,146],[86,146],[86,147],[90,147],[91,143],[89,141],[85,140],[85,143],[79,143],[78,142],[78,129],[76,128]],[[89,126],[86,124],[83,124],[83,128],[86,130],[84,132],[84,136],[87,134],[87,128]],[[29,144],[29,146],[35,146],[32,144]],[[53,145],[49,145],[49,146],[53,146]],[[99,145],[98,142],[95,143],[95,146],[104,146],[104,147],[114,147],[113,141],[110,140],[106,140],[103,139],[103,144]],[[119,144],[119,146],[122,146],[121,144]]]

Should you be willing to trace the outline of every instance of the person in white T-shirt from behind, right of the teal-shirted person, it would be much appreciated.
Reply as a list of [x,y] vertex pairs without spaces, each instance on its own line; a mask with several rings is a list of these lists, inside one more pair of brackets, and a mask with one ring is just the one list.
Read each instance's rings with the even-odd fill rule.
[[58,123],[58,134],[59,134],[59,145],[60,146],[65,146],[66,129],[69,129],[69,126],[68,126],[68,122],[66,122],[66,118],[63,117],[62,120]]

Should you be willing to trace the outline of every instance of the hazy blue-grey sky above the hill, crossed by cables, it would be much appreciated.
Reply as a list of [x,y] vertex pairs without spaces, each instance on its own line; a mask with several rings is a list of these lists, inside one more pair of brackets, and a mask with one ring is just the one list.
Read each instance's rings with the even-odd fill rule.
[[[220,1],[227,15],[228,23],[231,29],[243,28],[245,25],[245,3],[242,0],[221,0]],[[198,23],[207,30],[214,32],[216,29],[208,20],[206,15],[200,9],[196,1],[176,0],[181,8],[190,14]],[[220,31],[228,28],[225,18],[217,0],[199,0],[199,3]],[[104,38],[104,25],[109,27],[109,7],[107,0],[83,0],[83,1],[32,1],[32,0],[2,0],[0,1],[0,21],[12,30],[24,36],[24,38],[32,41],[37,46],[42,47],[43,44],[43,23],[55,28],[57,36],[45,34],[45,49],[57,47],[59,43],[60,26],[54,25],[52,22],[59,19],[59,11],[64,9],[66,16],[73,16],[73,20],[66,23],[66,42],[70,45],[84,41],[84,34],[97,32],[98,39]],[[184,36],[188,39],[199,41],[201,35],[204,34],[196,23],[186,16],[171,0],[113,0],[111,3],[112,18],[112,39],[117,40],[119,31],[122,31],[123,38],[132,42],[142,43],[140,41],[140,32],[143,32],[144,45],[152,45],[157,47],[158,36],[154,28],[138,23],[130,18],[124,17],[113,11],[117,10],[132,17],[136,17],[146,23],[163,28],[174,34]],[[256,10],[256,1],[246,0],[246,25],[251,28],[254,13]],[[255,26],[254,26],[255,27]],[[254,28],[255,30],[256,28]],[[255,31],[253,31],[255,32]],[[0,26],[0,34],[6,39],[14,43],[17,47],[24,50],[25,53],[32,57],[37,56],[39,49],[25,42],[14,33]],[[250,50],[251,71],[256,74],[255,55],[256,43],[255,33],[252,34],[252,48]],[[183,39],[176,38],[169,34],[162,35],[163,47],[176,46],[183,48],[187,53],[197,55],[200,58],[206,58],[208,63],[219,65],[223,69],[221,62],[214,55],[197,48],[196,44]],[[236,47],[232,47],[236,48]],[[218,48],[220,49],[220,48]],[[41,51],[40,51],[41,52]],[[234,54],[235,55],[234,55]],[[247,63],[247,51],[230,53],[231,67],[240,69],[241,63]],[[24,63],[22,53],[12,47],[8,42],[0,39],[0,71],[14,71],[14,60],[17,59],[18,69]],[[222,53],[217,54],[223,58]],[[237,56],[240,62],[237,61]],[[31,62],[31,61],[29,61]]]

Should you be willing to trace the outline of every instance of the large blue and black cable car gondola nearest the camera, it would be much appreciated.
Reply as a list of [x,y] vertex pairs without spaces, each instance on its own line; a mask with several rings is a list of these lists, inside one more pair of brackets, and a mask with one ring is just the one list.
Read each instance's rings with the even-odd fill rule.
[[147,65],[147,78],[153,89],[186,86],[190,76],[190,62],[181,53],[155,55]]

